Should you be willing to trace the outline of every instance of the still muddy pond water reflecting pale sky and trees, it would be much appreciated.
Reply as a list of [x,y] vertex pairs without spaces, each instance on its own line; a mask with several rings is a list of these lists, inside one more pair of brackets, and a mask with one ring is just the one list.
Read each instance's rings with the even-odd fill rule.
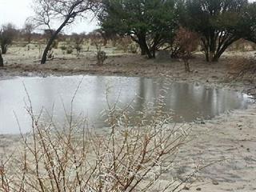
[[[78,88],[79,83],[81,85]],[[174,111],[174,121],[191,122],[213,118],[228,110],[245,109],[248,99],[245,94],[229,90],[207,89],[198,84],[174,83],[163,78],[120,78],[105,76],[72,76],[47,78],[11,78],[0,80],[0,134],[18,134],[30,130],[29,94],[34,114],[42,108],[42,121],[54,114],[59,122],[69,114],[74,97],[74,116],[85,115],[90,123],[104,126],[100,117],[107,102],[134,110],[144,106],[155,107],[165,103],[163,110]],[[16,118],[17,117],[17,118]],[[17,121],[18,119],[18,121]],[[19,126],[18,126],[19,124]]]

